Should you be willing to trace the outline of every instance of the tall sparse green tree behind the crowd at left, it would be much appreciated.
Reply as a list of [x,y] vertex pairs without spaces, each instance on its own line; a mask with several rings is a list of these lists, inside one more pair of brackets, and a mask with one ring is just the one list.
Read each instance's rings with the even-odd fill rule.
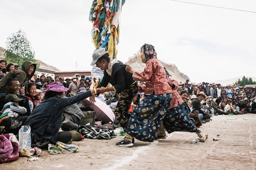
[[37,68],[39,67],[35,59],[35,51],[32,49],[26,33],[21,29],[7,37],[5,60],[8,63],[17,62],[19,66],[28,60],[36,63]]

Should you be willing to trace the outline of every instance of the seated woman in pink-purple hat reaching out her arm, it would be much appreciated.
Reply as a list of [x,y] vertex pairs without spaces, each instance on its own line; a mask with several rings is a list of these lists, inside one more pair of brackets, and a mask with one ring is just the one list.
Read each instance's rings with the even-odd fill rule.
[[[72,133],[59,132],[63,122],[63,108],[82,101],[92,96],[93,93],[97,94],[98,90],[99,88],[64,98],[64,92],[68,91],[68,88],[63,87],[60,82],[47,85],[47,88],[44,88],[46,100],[35,107],[24,124],[31,128],[31,147],[42,148],[47,147],[49,143],[54,144],[56,142],[71,144]],[[65,119],[67,118],[65,117]]]

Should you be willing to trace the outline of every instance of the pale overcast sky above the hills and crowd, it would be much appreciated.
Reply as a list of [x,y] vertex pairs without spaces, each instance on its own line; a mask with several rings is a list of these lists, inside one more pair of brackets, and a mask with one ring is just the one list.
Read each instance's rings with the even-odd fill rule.
[[[255,0],[184,0],[256,12]],[[0,46],[19,28],[35,58],[61,71],[91,70],[92,0],[2,0]],[[256,77],[256,13],[170,0],[126,0],[117,58],[126,62],[144,43],[193,82]],[[228,73],[227,73],[228,72]],[[243,73],[230,73],[243,72]]]

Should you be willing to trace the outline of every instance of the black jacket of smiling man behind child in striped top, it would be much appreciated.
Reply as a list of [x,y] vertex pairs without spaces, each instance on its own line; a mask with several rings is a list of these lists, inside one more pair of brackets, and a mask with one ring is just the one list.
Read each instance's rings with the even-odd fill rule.
[[[7,95],[7,93],[2,93],[0,94],[0,111],[2,111],[3,106],[6,104],[4,101],[5,96]],[[22,95],[17,95],[18,98],[20,99],[24,99],[23,101],[19,101],[19,106],[24,107],[27,109],[27,112],[25,114],[23,114],[22,116],[29,116],[31,114],[30,112],[30,108],[29,108],[29,99],[27,96],[22,96]]]

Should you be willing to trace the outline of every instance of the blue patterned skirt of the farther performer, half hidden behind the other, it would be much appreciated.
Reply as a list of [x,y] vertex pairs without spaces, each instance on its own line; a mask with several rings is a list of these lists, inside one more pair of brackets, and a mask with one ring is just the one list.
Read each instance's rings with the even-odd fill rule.
[[174,131],[196,132],[197,127],[189,119],[189,111],[186,104],[178,104],[177,107],[171,108],[164,117],[164,127],[168,133]]

